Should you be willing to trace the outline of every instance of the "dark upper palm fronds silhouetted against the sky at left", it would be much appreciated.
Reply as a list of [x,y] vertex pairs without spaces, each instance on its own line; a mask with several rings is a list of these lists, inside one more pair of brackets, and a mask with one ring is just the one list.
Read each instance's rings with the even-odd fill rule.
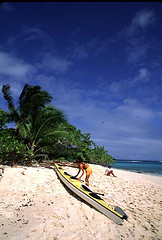
[[29,117],[34,119],[39,110],[52,100],[52,96],[46,91],[41,91],[40,86],[32,87],[25,84],[16,108],[11,96],[10,85],[3,85],[2,92],[9,111],[6,113],[6,117],[8,122],[14,122],[16,127],[19,123],[28,123]]

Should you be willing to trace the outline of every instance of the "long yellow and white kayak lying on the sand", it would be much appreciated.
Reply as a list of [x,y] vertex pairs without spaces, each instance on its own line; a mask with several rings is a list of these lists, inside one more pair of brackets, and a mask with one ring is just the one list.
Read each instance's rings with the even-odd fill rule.
[[91,206],[97,209],[99,212],[106,215],[117,224],[122,224],[124,220],[127,220],[128,216],[118,206],[112,207],[104,201],[99,195],[92,191],[87,185],[77,178],[71,176],[62,166],[54,163],[54,170],[57,173],[59,179],[76,195],[88,202]]

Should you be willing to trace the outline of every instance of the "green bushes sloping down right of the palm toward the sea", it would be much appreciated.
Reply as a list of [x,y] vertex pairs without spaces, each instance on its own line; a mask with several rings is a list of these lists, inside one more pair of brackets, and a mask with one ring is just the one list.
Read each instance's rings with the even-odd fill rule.
[[55,149],[55,156],[65,157],[68,161],[80,158],[91,163],[108,164],[113,163],[113,158],[104,147],[97,146],[89,133],[82,133],[80,129],[64,122],[59,125],[66,130],[59,138],[58,146]]

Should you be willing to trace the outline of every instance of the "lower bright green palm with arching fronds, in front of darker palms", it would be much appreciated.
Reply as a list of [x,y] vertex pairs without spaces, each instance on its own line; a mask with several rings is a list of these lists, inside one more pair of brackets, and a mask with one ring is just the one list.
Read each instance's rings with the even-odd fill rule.
[[35,121],[28,124],[26,138],[33,153],[47,151],[54,147],[58,139],[68,134],[60,123],[66,122],[62,112],[52,106],[47,106],[39,111]]

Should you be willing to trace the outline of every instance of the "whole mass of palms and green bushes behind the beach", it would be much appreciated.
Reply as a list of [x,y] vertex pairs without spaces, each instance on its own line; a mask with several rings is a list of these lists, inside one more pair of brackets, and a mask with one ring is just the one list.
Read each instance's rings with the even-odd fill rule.
[[[82,133],[68,123],[61,110],[49,105],[52,96],[40,86],[25,84],[16,105],[9,84],[3,85],[2,93],[8,111],[0,109],[1,163],[25,164],[41,156],[54,161],[81,158],[91,163],[113,162],[89,133]],[[9,123],[14,127],[9,128]]]

